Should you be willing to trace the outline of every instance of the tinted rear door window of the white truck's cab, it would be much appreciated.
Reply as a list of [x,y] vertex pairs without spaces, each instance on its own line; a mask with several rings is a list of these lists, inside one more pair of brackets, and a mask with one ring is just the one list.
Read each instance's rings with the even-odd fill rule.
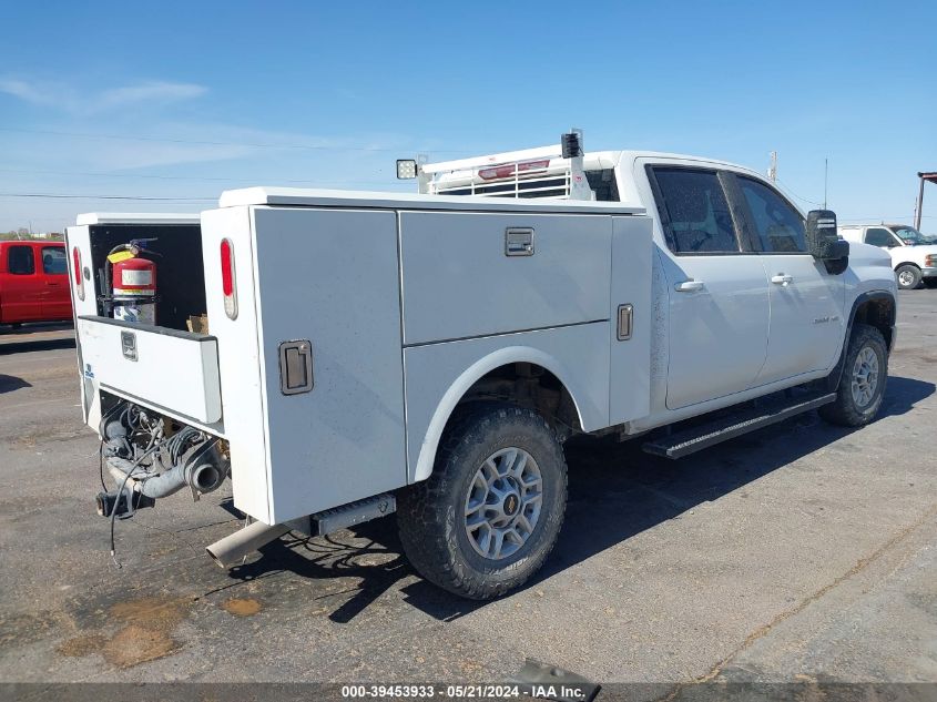
[[653,169],[658,208],[675,254],[739,253],[729,201],[712,171]]

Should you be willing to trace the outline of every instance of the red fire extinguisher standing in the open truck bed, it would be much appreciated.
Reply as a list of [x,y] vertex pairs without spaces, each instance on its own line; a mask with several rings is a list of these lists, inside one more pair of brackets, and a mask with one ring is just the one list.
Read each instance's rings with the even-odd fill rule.
[[133,240],[115,246],[108,254],[113,281],[111,299],[114,319],[156,324],[156,264],[140,256],[146,251],[143,243],[150,241],[155,240]]

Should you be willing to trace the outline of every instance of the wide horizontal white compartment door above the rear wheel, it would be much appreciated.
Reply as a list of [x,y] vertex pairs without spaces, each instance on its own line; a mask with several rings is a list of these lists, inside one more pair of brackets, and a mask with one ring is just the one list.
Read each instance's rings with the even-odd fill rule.
[[[511,227],[531,255],[506,255]],[[608,319],[611,216],[403,212],[400,232],[406,345]]]

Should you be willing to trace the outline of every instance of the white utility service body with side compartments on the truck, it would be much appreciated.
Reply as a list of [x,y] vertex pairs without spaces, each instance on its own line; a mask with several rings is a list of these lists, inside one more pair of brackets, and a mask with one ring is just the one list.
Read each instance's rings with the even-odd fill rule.
[[[531,255],[506,255],[515,228],[532,230]],[[86,237],[70,227],[90,261]],[[75,301],[88,424],[104,389],[227,440],[234,505],[265,523],[426,479],[456,404],[503,365],[560,378],[585,431],[649,413],[642,207],[257,187],[224,193],[201,241],[210,335],[130,327]],[[634,308],[628,342],[621,304]],[[135,335],[133,360],[121,332]],[[310,344],[313,388],[284,395],[279,345],[295,339]]]

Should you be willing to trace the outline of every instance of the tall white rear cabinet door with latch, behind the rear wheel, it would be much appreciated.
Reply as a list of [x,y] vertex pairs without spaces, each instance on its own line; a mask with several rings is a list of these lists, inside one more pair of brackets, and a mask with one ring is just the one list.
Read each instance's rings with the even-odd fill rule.
[[[269,518],[284,521],[405,485],[396,214],[252,212]],[[284,395],[279,345],[299,339],[312,344],[314,387]]]

